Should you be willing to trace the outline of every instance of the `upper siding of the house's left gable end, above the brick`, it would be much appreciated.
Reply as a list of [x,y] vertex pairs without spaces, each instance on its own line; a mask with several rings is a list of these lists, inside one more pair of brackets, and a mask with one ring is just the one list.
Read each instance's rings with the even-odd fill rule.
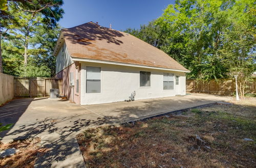
[[[64,49],[63,54],[62,48]],[[63,43],[62,47],[59,49],[58,54],[56,56],[56,74],[73,63],[74,62],[70,57],[66,43]]]

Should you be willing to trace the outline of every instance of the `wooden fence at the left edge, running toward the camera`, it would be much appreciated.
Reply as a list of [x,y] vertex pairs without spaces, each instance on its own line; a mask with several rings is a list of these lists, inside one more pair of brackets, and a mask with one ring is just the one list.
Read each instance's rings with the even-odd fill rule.
[[13,96],[13,76],[0,73],[0,105],[11,100]]

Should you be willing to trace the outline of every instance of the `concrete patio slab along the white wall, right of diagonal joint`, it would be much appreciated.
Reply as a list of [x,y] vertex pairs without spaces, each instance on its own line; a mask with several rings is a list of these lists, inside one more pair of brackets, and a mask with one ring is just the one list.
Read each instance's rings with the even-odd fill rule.
[[87,110],[109,119],[114,123],[125,123],[152,116],[169,113],[217,101],[226,101],[231,97],[208,94],[190,94],[185,96],[165,97],[157,99],[136,100],[131,102],[115,102],[96,105],[83,105]]

